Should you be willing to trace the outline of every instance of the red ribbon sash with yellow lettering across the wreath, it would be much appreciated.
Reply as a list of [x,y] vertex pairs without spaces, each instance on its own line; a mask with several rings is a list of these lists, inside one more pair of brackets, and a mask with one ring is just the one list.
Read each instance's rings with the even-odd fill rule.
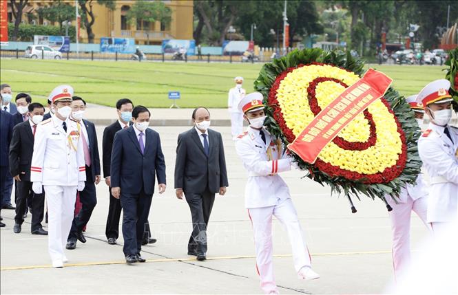
[[391,82],[393,80],[382,72],[368,69],[360,80],[320,111],[288,149],[313,164],[326,144],[364,109],[384,96]]

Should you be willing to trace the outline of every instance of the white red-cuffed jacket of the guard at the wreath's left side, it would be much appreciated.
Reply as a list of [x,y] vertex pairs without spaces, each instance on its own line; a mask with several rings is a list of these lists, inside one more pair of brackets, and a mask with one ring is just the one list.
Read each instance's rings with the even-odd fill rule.
[[246,208],[275,206],[290,198],[287,184],[277,173],[291,170],[291,160],[283,153],[282,145],[266,129],[262,131],[267,144],[262,141],[260,131],[251,127],[236,140],[237,153],[249,173]]

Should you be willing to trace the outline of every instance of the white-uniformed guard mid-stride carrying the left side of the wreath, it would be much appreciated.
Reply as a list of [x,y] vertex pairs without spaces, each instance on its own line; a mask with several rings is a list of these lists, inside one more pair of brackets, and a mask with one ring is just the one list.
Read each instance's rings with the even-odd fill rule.
[[298,277],[320,276],[311,269],[311,257],[289,188],[278,173],[291,170],[291,157],[284,152],[279,139],[264,129],[262,94],[255,92],[242,98],[240,112],[249,122],[248,131],[236,139],[236,150],[248,171],[245,206],[253,224],[256,269],[266,294],[278,294],[273,276],[272,217],[286,228],[291,242],[294,267]]

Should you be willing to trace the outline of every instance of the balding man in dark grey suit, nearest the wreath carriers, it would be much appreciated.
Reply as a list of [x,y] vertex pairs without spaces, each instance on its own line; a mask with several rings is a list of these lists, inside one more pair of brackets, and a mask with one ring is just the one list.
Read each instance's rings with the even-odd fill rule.
[[227,182],[225,150],[221,134],[209,129],[210,113],[198,107],[192,113],[195,126],[178,135],[175,164],[176,197],[191,209],[193,230],[188,254],[206,259],[207,226],[215,194],[225,195]]

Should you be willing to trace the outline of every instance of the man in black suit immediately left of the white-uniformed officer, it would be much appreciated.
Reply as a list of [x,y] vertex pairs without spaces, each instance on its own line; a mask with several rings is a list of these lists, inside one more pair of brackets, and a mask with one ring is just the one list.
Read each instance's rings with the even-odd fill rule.
[[[18,112],[19,113],[19,112]],[[32,234],[47,235],[43,230],[43,210],[45,206],[45,194],[36,194],[32,190],[30,182],[30,164],[32,162],[34,133],[37,124],[43,120],[45,108],[38,102],[28,105],[28,120],[14,126],[10,144],[10,173],[17,183],[16,216],[14,217],[14,233],[21,232],[24,214],[27,205],[32,207]],[[32,199],[28,203],[28,198]]]

